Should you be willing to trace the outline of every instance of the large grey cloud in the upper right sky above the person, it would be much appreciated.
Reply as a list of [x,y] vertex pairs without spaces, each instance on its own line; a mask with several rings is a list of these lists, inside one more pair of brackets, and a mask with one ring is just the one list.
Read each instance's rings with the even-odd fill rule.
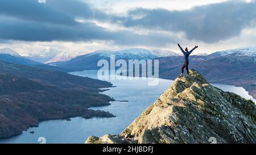
[[[256,3],[228,1],[194,7],[184,11],[134,9],[127,16],[113,17],[126,27],[140,27],[169,32],[185,32],[187,39],[215,43],[237,36],[256,21]],[[134,16],[142,16],[136,19]]]

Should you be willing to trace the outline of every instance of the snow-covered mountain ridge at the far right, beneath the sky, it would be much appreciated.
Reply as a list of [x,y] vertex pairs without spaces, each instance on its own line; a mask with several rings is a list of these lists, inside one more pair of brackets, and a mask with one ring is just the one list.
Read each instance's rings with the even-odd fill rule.
[[234,55],[234,56],[256,56],[256,47],[248,47],[248,48],[237,48],[237,49],[229,49],[225,51],[214,52],[209,57],[220,57],[226,55]]

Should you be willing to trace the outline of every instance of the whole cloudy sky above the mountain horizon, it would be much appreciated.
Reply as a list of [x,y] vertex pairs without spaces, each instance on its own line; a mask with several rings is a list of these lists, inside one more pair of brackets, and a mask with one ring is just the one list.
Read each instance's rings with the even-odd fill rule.
[[0,48],[22,55],[126,48],[254,47],[254,0],[1,0]]

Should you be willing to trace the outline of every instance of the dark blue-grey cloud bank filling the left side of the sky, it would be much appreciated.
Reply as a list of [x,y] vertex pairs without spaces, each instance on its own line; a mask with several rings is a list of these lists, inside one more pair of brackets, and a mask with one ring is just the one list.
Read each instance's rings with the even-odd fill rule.
[[[112,40],[122,45],[164,45],[171,37],[160,33],[139,35],[131,31],[108,31],[75,18],[107,20],[111,16],[78,0],[0,1],[0,39],[24,41]],[[155,39],[158,39],[157,41]]]

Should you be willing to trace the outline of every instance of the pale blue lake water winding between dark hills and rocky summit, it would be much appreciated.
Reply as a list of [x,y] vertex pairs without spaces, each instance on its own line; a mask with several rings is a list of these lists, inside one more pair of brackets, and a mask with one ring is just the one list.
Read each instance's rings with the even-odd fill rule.
[[[97,78],[96,70],[84,72],[73,72],[77,76]],[[22,135],[9,139],[0,140],[0,143],[38,143],[39,137],[45,137],[46,143],[84,143],[88,136],[103,136],[106,133],[118,134],[123,131],[143,110],[152,104],[160,94],[166,90],[172,80],[159,79],[158,86],[148,86],[146,80],[117,80],[110,82],[114,86],[104,94],[113,97],[115,100],[128,100],[129,102],[111,102],[111,106],[93,107],[93,109],[109,111],[116,118],[92,118],[83,119],[80,117],[72,120],[49,120],[41,122],[39,127],[30,128]],[[251,96],[242,87],[229,85],[214,85],[224,91],[232,91],[240,94],[246,99]],[[35,131],[33,135],[30,131]]]

